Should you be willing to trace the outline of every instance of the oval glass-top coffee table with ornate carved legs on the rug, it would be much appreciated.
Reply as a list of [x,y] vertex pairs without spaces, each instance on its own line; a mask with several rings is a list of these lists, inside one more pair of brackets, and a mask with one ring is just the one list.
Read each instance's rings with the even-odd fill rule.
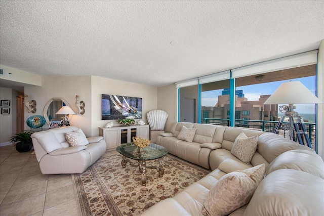
[[[143,186],[146,185],[146,168],[154,168],[158,171],[158,176],[163,177],[164,168],[161,163],[160,158],[168,154],[165,147],[151,143],[145,148],[138,148],[133,142],[121,144],[116,148],[116,151],[123,155],[123,160],[121,160],[121,166],[126,167],[127,162],[132,166],[139,166],[140,172],[142,174],[141,183]],[[127,158],[127,159],[126,159]],[[137,164],[134,164],[130,159],[137,160]],[[158,166],[146,166],[147,160],[158,159]]]

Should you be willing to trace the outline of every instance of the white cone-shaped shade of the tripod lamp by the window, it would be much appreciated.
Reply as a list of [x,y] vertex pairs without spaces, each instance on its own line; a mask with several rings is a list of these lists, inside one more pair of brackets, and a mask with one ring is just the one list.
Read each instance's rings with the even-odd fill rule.
[[322,103],[300,81],[282,83],[264,104],[319,104]]

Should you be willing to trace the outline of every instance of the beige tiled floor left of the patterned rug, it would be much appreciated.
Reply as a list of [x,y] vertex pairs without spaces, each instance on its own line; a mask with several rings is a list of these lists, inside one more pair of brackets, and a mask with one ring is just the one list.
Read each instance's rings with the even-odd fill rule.
[[79,215],[71,175],[43,175],[31,153],[0,147],[0,215]]

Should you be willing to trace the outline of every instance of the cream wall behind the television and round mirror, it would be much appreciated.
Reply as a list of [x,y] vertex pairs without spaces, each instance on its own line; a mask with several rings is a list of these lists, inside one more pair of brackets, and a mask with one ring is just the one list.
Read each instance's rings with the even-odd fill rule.
[[[64,98],[77,113],[75,95],[79,95],[79,100],[85,102],[85,114],[73,115],[70,124],[82,128],[87,136],[98,136],[98,127],[109,121],[117,124],[115,120],[101,120],[101,94],[142,98],[142,116],[146,123],[146,113],[157,107],[156,87],[98,76],[43,76],[42,87],[25,87],[25,94],[29,101],[37,103],[36,113],[28,113],[25,108],[25,121],[29,116],[43,115],[43,109],[51,98]],[[29,129],[26,123],[25,129]]]

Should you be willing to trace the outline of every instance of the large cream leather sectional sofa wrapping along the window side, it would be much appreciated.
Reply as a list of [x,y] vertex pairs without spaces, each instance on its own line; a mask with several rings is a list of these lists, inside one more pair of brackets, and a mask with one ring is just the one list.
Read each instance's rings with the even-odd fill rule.
[[[177,139],[183,125],[197,128],[192,143]],[[249,164],[231,153],[241,132],[247,137],[258,136],[257,149]],[[142,215],[204,215],[204,202],[222,177],[260,164],[265,164],[265,177],[250,202],[228,215],[324,215],[324,162],[306,146],[272,133],[184,122],[175,123],[170,133],[161,133],[157,144],[166,147],[171,154],[212,171]],[[217,205],[222,203],[215,203]]]

